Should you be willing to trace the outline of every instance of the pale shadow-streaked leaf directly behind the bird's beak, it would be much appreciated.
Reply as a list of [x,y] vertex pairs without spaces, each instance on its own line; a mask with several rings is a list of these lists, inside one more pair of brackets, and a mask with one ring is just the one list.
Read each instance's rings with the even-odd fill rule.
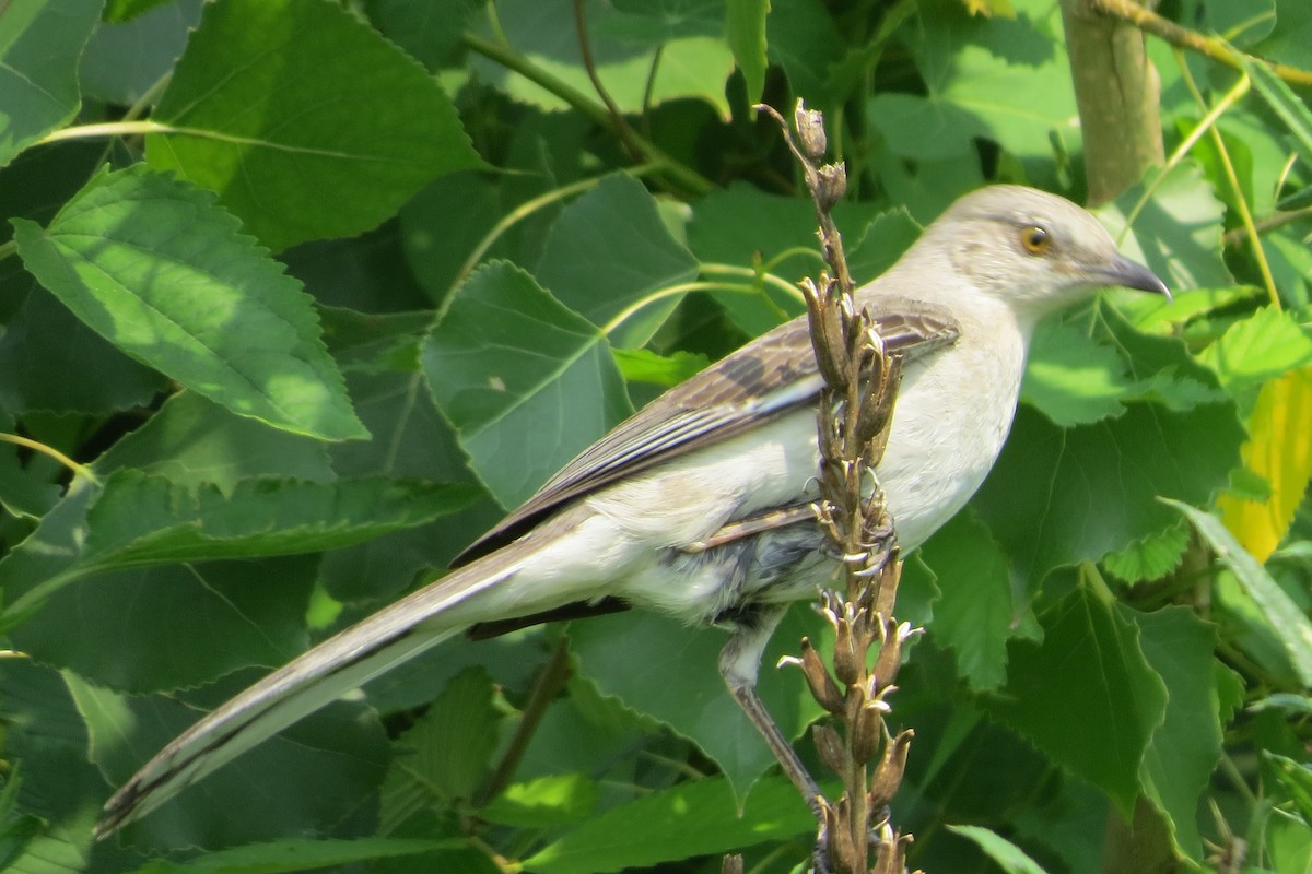
[[[1165,176],[1149,170],[1144,182],[1097,215],[1126,256],[1151,267],[1172,290],[1189,290],[1233,284],[1221,258],[1224,211],[1198,166],[1185,161]],[[1130,291],[1119,292],[1118,300],[1126,300],[1131,311],[1155,304]]]

